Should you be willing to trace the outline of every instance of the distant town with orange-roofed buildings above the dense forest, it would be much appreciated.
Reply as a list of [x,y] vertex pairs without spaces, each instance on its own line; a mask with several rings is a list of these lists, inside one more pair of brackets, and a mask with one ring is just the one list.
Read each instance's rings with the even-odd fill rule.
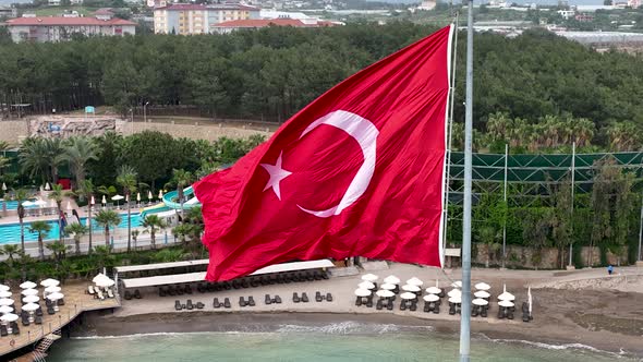
[[[476,8],[475,29],[508,37],[542,27],[583,44],[639,49],[643,44],[642,0],[605,0],[603,5],[517,4],[490,0]],[[326,27],[368,21],[411,21],[444,25],[459,4],[436,0],[387,3],[364,0],[241,2],[167,0],[34,0],[0,7],[0,37],[20,41],[62,41],[74,36],[135,34],[226,34],[266,26]],[[461,16],[460,25],[465,22]]]

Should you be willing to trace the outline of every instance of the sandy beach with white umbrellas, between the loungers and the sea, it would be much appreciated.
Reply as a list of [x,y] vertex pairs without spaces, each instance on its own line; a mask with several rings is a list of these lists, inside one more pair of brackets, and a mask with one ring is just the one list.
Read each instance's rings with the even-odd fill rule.
[[[363,272],[365,274],[367,272]],[[459,279],[459,270],[423,268],[393,264],[389,269],[372,270],[380,279],[396,275],[402,282],[413,276],[424,280],[425,287],[447,287]],[[159,298],[144,294],[142,300],[123,301],[123,306],[110,315],[90,315],[84,327],[74,336],[118,336],[147,333],[184,331],[274,331],[284,325],[330,325],[342,322],[384,324],[397,326],[430,326],[440,333],[456,334],[459,317],[442,309],[440,314],[417,311],[377,311],[375,307],[355,306],[353,291],[361,275],[333,277],[329,280],[272,285],[257,288]],[[487,318],[472,318],[472,331],[478,338],[526,340],[548,345],[580,343],[593,348],[643,358],[643,269],[617,268],[607,276],[603,269],[573,273],[553,270],[498,270],[475,268],[473,281],[492,285],[493,300],[501,293],[502,285],[515,294],[517,304],[526,300],[526,287],[534,295],[534,321],[523,323],[517,312],[513,321],[496,317],[493,303]],[[315,302],[316,291],[331,292],[332,302]],[[293,303],[293,292],[306,292],[311,302]],[[282,304],[264,304],[264,294],[279,294]],[[239,306],[239,297],[253,295],[257,305]],[[214,309],[213,298],[230,298],[232,307]],[[206,304],[202,311],[173,309],[174,300],[183,303]],[[421,304],[423,305],[423,304]]]

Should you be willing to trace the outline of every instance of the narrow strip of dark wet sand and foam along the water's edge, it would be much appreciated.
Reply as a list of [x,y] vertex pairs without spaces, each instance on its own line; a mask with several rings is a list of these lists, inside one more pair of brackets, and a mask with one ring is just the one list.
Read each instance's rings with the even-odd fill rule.
[[[288,326],[305,326],[310,331],[336,334],[381,335],[387,331],[360,328],[360,326],[378,326],[387,330],[388,326],[423,327],[424,333],[437,333],[458,337],[460,324],[456,321],[440,321],[402,316],[387,313],[343,313],[343,312],[186,312],[186,313],[149,313],[131,316],[87,316],[86,327],[72,333],[71,338],[119,338],[162,334],[191,333],[283,333]],[[357,325],[354,325],[354,324]],[[343,325],[342,325],[343,324]],[[329,328],[329,326],[331,326]],[[339,325],[339,326],[338,326]],[[558,333],[547,330],[545,336],[541,328],[525,330],[517,325],[502,325],[505,330],[495,325],[472,319],[472,340],[497,343],[522,343],[534,348],[548,349],[585,349],[598,353],[629,358],[643,357],[643,343],[635,338],[624,345],[615,346],[614,338],[621,340],[624,336],[610,336],[612,333],[599,333],[596,336],[570,334],[561,328]],[[353,328],[353,330],[351,330]],[[288,329],[288,328],[287,328]],[[420,329],[422,330],[422,329]],[[407,330],[420,333],[420,330]],[[286,330],[287,333],[289,330]],[[294,330],[293,330],[294,331]],[[301,330],[296,330],[301,333]],[[392,331],[391,331],[392,333]],[[578,333],[578,331],[577,331]],[[623,348],[624,347],[624,348]]]

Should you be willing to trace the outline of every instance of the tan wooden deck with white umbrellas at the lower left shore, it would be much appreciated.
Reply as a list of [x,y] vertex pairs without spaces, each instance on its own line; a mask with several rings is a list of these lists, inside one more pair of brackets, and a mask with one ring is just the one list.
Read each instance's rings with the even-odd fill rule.
[[[121,305],[118,295],[117,298],[101,301],[94,299],[93,295],[86,294],[85,290],[89,283],[89,281],[74,281],[62,285],[61,288],[62,293],[64,294],[64,305],[59,306],[60,311],[56,312],[53,315],[47,314],[47,311],[45,310],[41,325],[32,323],[28,326],[23,326],[19,319],[20,335],[0,337],[0,357],[39,341],[46,335],[64,327],[83,312],[113,309]],[[41,290],[43,288],[39,289]],[[17,301],[19,298],[22,298],[22,295],[20,295],[21,290],[19,288],[13,288],[12,292],[16,304],[21,305],[21,302]],[[40,301],[40,304],[45,305],[45,302]],[[12,341],[13,346],[11,346]]]

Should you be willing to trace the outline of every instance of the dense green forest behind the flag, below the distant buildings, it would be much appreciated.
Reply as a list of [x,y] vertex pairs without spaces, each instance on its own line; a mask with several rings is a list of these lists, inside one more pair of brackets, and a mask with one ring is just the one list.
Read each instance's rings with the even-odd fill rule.
[[[125,114],[149,102],[151,109],[194,106],[208,117],[283,121],[341,80],[434,29],[351,24],[5,41],[0,100],[28,102],[41,112],[110,105]],[[458,43],[456,121],[464,111],[464,36]],[[515,38],[476,34],[474,48],[474,119],[482,132],[476,148],[495,150],[510,141],[512,152],[554,152],[574,141],[589,150],[642,147],[640,57],[598,53],[545,31]]]

